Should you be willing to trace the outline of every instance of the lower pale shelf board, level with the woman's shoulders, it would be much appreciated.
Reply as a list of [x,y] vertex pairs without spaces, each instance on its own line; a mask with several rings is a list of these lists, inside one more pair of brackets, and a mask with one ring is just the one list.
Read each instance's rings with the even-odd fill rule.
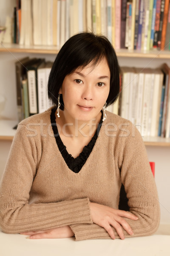
[[[15,125],[15,120],[0,120],[0,140],[13,140],[16,133],[13,129]],[[143,137],[143,140],[146,146],[170,147],[170,138]]]

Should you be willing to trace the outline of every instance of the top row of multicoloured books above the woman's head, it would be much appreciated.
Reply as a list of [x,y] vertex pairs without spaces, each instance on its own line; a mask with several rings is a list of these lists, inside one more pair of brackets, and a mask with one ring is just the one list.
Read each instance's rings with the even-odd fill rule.
[[83,31],[107,36],[115,49],[170,49],[170,1],[17,0],[15,43],[61,47]]

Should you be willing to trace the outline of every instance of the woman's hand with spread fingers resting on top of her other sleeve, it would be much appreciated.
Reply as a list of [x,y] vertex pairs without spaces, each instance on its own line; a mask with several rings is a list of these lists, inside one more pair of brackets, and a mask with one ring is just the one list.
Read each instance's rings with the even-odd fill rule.
[[[137,220],[138,218],[131,212],[126,212],[122,210],[116,210],[111,207],[90,203],[91,217],[94,223],[104,227],[112,239],[115,239],[115,235],[112,227],[114,227],[121,239],[124,239],[122,227],[127,231],[128,234],[133,235],[133,230],[124,218],[129,218],[132,220]],[[112,227],[111,227],[112,226]]]

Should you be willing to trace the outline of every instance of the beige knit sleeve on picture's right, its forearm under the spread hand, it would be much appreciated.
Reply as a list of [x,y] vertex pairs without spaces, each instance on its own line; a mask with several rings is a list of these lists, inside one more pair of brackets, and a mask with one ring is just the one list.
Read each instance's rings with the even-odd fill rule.
[[[127,193],[130,212],[138,217],[137,221],[125,218],[133,230],[130,236],[123,228],[126,237],[149,236],[159,227],[160,208],[156,183],[147,159],[147,152],[139,131],[135,136],[121,138],[121,148],[117,154],[121,180]],[[84,239],[111,239],[106,230],[96,224],[73,224],[70,226],[76,241]],[[116,238],[119,238],[113,228]]]

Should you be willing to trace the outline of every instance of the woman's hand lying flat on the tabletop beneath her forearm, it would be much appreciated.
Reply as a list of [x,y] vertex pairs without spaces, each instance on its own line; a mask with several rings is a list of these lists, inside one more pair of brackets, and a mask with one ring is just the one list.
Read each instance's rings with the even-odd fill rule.
[[28,236],[26,237],[28,239],[68,238],[74,236],[74,233],[69,226],[56,227],[49,230],[29,231],[20,234]]

